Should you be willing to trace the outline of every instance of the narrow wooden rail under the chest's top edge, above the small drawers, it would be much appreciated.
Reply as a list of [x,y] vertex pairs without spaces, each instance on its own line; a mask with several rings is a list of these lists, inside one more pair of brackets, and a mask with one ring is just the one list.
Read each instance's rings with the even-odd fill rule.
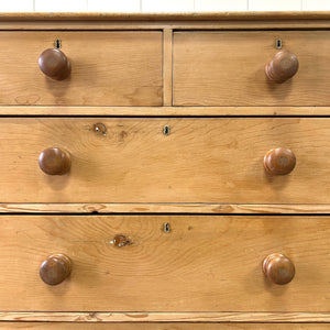
[[98,21],[98,20],[54,20],[54,21],[0,21],[1,30],[11,31],[155,31],[163,29],[173,29],[176,31],[187,30],[244,30],[244,31],[275,31],[275,30],[323,30],[330,28],[330,20],[306,19],[306,20],[270,20],[260,21],[221,21],[221,20],[201,20],[201,21]]

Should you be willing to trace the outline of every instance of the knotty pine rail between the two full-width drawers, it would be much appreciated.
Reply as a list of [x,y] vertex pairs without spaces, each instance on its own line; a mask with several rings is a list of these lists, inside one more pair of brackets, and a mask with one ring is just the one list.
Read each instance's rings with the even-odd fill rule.
[[330,213],[329,204],[0,204],[0,213]]

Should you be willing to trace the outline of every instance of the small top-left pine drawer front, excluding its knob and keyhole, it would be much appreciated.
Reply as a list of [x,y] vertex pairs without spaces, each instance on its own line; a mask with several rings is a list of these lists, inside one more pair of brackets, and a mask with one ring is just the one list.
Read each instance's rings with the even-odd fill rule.
[[[72,64],[62,81],[38,68],[57,38]],[[0,105],[162,105],[162,32],[0,32]]]

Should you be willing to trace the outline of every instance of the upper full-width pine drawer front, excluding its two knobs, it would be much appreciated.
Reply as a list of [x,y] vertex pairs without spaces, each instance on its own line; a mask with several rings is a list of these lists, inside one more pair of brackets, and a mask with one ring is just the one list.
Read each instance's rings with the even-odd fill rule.
[[[1,202],[330,202],[328,118],[2,118],[0,146]],[[53,147],[67,174],[40,168]],[[265,172],[276,147],[288,175]]]

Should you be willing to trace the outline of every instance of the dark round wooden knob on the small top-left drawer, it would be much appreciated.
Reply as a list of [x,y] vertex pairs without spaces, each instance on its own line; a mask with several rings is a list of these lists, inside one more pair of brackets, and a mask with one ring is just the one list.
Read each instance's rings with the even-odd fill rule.
[[38,67],[50,78],[63,80],[70,75],[72,65],[63,52],[56,48],[44,51],[38,57]]

